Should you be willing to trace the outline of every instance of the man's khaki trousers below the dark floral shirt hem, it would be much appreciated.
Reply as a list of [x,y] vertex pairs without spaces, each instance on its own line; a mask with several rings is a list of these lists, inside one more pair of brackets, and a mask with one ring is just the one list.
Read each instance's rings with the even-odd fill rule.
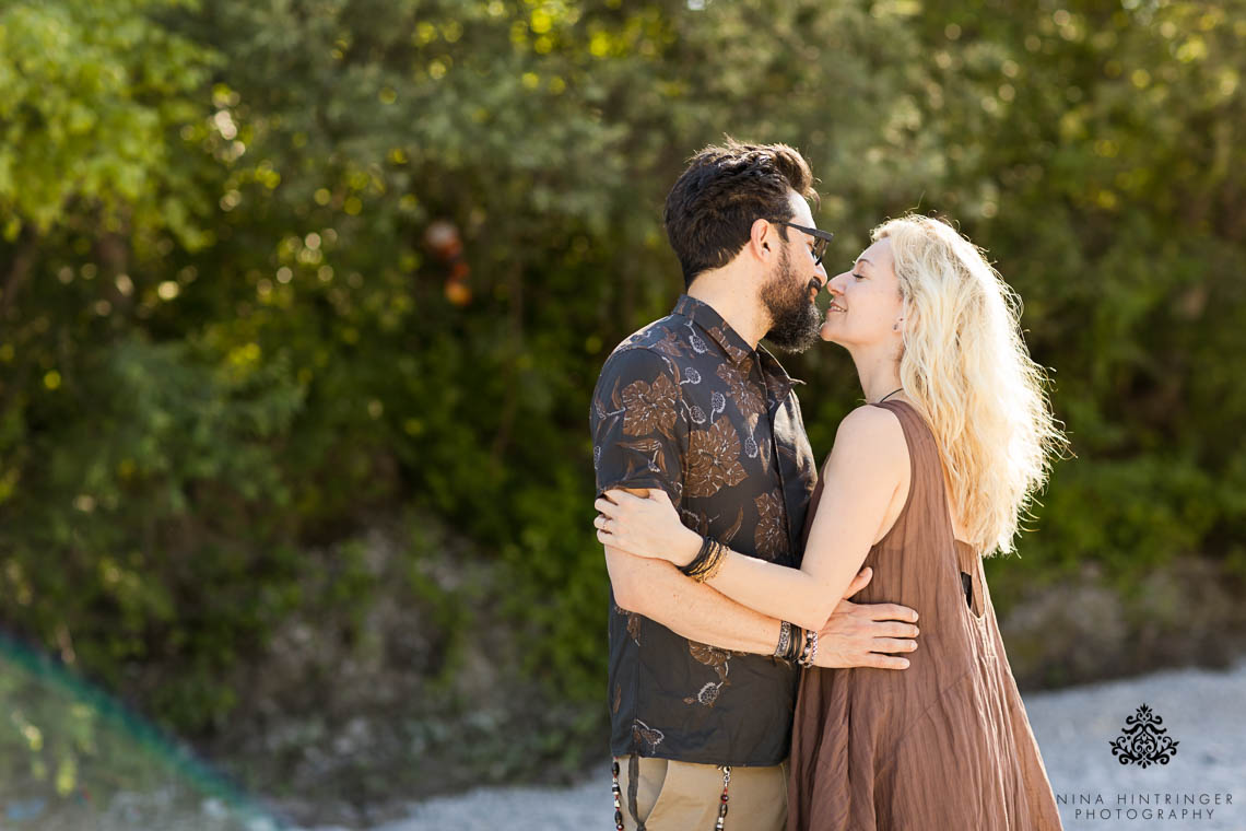
[[[714,831],[723,796],[721,767],[640,756],[617,761],[627,831]],[[731,767],[728,795],[724,831],[784,831],[787,762]]]

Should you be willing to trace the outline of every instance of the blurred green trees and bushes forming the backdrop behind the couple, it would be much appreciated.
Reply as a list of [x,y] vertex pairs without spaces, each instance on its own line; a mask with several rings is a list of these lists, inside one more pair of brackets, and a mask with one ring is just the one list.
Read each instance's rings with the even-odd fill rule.
[[[832,267],[938,212],[1024,297],[1078,458],[992,566],[1018,675],[1224,660],[1244,47],[1242,0],[7,0],[0,620],[290,799],[599,756],[588,396],[731,133]],[[851,364],[785,364],[824,453]]]

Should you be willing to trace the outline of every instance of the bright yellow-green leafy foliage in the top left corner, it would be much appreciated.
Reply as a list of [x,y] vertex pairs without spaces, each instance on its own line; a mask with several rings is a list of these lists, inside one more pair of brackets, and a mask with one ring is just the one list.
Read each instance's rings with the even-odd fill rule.
[[[178,0],[6,4],[0,11],[0,209],[12,240],[91,222],[95,230],[168,228],[203,242],[191,218],[173,132],[197,115],[212,52],[147,14]],[[189,203],[189,204],[188,204]]]

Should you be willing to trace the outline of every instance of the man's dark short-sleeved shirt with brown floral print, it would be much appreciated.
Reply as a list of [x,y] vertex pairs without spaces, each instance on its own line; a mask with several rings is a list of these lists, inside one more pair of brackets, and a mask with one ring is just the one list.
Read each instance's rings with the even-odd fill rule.
[[[598,493],[663,488],[684,525],[800,564],[817,480],[799,384],[688,295],[607,359],[589,424]],[[796,669],[683,638],[611,594],[611,753],[715,765],[787,757]]]

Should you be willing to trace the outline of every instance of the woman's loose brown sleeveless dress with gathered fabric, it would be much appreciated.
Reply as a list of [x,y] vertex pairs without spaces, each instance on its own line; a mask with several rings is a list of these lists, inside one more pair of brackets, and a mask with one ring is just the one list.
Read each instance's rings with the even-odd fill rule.
[[865,558],[873,579],[854,601],[917,609],[921,637],[908,669],[805,670],[787,829],[1059,829],[982,558],[952,534],[934,435],[911,405],[878,406],[903,426],[912,478],[895,526]]

